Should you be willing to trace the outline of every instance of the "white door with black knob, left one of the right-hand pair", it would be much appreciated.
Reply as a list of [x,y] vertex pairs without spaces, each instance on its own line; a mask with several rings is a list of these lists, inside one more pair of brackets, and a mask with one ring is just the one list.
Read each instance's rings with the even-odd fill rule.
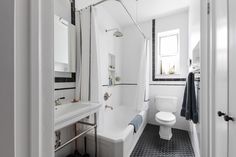
[[[233,0],[235,1],[235,0]],[[224,113],[228,112],[228,0],[215,0],[213,3],[213,61],[215,69],[213,94],[213,157],[227,157],[228,125]],[[214,25],[215,24],[215,25]],[[214,30],[215,29],[215,30]],[[213,72],[214,73],[214,72]],[[218,112],[222,115],[219,116]],[[215,141],[214,141],[215,140]]]

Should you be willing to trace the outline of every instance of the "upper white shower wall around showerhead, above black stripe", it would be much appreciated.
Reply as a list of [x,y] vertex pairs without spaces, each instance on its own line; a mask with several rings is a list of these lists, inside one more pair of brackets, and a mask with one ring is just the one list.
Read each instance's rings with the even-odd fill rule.
[[108,54],[114,54],[116,57],[116,75],[121,75],[122,57],[122,40],[113,36],[114,31],[106,32],[107,29],[120,28],[119,24],[114,21],[109,12],[102,6],[96,8],[97,22],[98,22],[98,36],[99,36],[99,51],[101,62],[101,83],[108,85]]

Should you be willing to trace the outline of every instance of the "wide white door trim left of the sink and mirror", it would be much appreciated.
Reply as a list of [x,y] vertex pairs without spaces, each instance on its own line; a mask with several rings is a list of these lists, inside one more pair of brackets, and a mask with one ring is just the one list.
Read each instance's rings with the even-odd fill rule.
[[30,1],[31,155],[54,156],[53,0]]

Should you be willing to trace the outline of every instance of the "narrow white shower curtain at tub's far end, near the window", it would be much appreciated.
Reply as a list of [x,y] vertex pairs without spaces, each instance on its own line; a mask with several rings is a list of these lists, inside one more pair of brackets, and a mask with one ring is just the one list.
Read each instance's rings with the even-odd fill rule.
[[147,109],[149,101],[149,40],[145,39],[140,55],[140,67],[137,86],[137,109]]

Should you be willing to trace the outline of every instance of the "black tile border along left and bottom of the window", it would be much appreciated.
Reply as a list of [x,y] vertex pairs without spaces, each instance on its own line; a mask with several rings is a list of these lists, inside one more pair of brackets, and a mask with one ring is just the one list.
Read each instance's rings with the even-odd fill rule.
[[156,77],[156,20],[152,20],[152,81],[186,81],[186,78],[168,75]]

